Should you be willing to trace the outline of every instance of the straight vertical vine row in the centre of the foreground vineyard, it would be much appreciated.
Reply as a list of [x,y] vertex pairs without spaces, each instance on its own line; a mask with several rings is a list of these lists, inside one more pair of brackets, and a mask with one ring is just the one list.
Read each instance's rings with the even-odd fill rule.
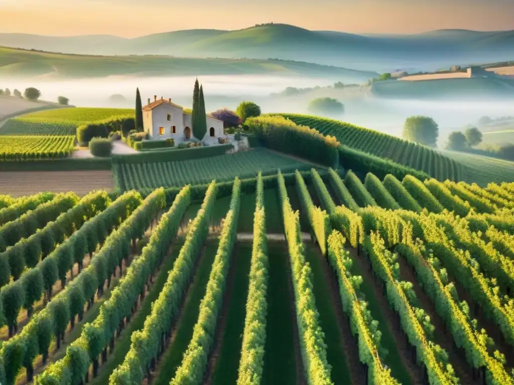
[[262,176],[259,174],[253,215],[253,245],[246,301],[245,329],[243,331],[237,385],[259,385],[262,381],[268,308],[266,300],[268,290],[267,248],[264,184]]

